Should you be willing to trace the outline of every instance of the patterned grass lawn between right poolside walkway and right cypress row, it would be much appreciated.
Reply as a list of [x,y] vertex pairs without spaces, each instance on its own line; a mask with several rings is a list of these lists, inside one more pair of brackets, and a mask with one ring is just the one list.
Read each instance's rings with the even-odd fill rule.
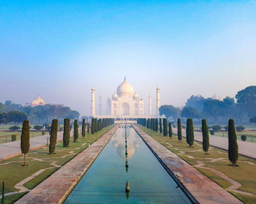
[[[209,154],[204,154],[202,144],[194,141],[193,148],[189,148],[184,137],[182,141],[178,141],[177,135],[173,135],[172,138],[164,137],[159,132],[153,132],[151,129],[147,129],[144,126],[140,126],[144,132],[153,137],[159,143],[161,143],[166,148],[170,149],[174,154],[178,154],[179,157],[184,159],[190,165],[197,165],[197,161],[203,162],[205,165],[203,167],[211,167],[215,170],[218,170],[220,173],[227,175],[232,178],[234,181],[237,181],[242,186],[238,189],[244,192],[250,192],[256,194],[256,160],[248,159],[244,156],[239,156],[238,158],[238,167],[231,167],[228,160],[227,151],[210,147]],[[181,151],[184,151],[184,154],[181,154]],[[188,155],[188,156],[187,156]],[[191,157],[192,156],[192,157]],[[220,159],[222,158],[222,159]],[[217,161],[212,161],[213,159],[219,159]],[[200,170],[203,174],[207,175],[208,178],[215,181],[217,184],[223,188],[231,186],[229,181],[226,181],[224,178],[220,177],[216,173],[213,173],[211,170],[203,169],[201,167],[196,167],[197,170]],[[256,203],[256,197],[248,197],[244,194],[239,194],[237,196],[239,200],[244,203]]]

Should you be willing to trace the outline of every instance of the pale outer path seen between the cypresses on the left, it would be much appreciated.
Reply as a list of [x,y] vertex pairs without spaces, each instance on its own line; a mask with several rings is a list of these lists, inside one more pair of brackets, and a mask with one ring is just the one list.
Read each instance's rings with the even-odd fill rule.
[[[70,136],[73,135],[73,132],[74,132],[73,130],[74,129],[72,129],[70,131]],[[81,132],[81,128],[79,128],[78,131]],[[30,151],[35,148],[46,146],[47,141],[49,140],[48,138],[50,138],[50,135],[41,135],[41,136],[37,136],[37,137],[31,137],[30,138]],[[58,132],[57,140],[59,141],[62,139],[63,139],[63,132]],[[20,140],[10,142],[10,143],[0,144],[0,161],[4,160],[4,159],[8,159],[13,156],[17,156],[19,154],[21,154]]]

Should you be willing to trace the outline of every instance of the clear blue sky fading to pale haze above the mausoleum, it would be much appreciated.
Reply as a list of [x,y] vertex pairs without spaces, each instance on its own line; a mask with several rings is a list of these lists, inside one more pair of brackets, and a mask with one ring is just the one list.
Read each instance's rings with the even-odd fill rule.
[[[147,106],[256,85],[256,1],[0,1],[0,102],[90,114],[127,76]],[[98,106],[97,106],[98,107]]]

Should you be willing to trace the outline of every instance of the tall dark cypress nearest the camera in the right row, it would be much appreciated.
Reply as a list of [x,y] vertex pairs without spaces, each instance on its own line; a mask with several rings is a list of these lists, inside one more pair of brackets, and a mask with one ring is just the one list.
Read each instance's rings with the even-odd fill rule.
[[238,145],[235,124],[232,118],[228,121],[228,159],[234,165],[238,160]]

